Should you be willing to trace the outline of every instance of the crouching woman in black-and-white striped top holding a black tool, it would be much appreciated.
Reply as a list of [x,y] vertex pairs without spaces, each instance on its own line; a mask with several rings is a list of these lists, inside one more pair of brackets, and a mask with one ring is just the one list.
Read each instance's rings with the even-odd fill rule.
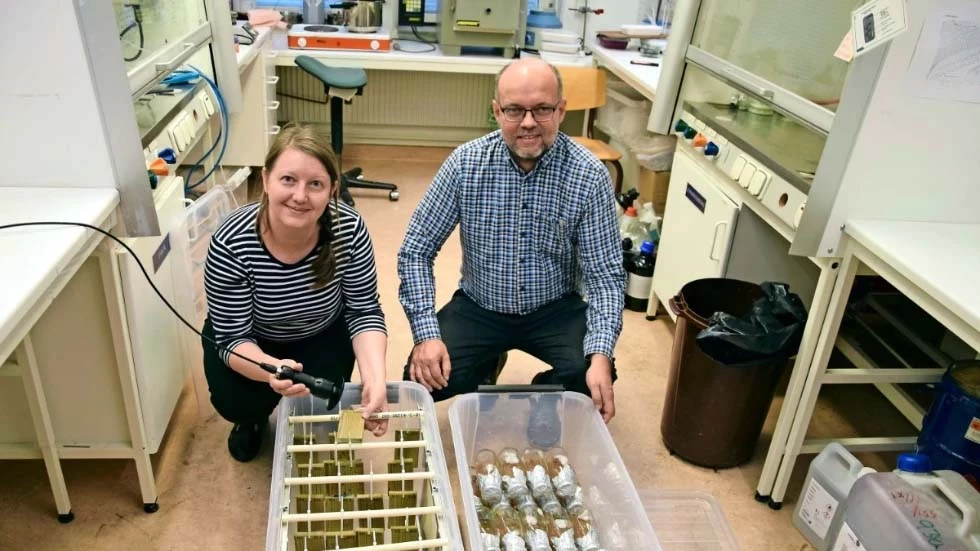
[[[387,408],[387,333],[364,221],[337,200],[339,168],[312,127],[283,129],[262,170],[262,200],[239,208],[211,238],[204,271],[204,370],[211,403],[234,423],[228,451],[250,461],[282,396],[305,396],[257,362],[349,381],[357,359],[365,418]],[[381,435],[387,426],[367,420]]]

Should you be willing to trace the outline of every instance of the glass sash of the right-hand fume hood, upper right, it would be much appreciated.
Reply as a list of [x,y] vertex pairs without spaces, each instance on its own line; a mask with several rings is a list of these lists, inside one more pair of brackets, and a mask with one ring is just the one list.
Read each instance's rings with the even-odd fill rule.
[[864,0],[702,0],[692,45],[835,111],[848,63],[834,52]]

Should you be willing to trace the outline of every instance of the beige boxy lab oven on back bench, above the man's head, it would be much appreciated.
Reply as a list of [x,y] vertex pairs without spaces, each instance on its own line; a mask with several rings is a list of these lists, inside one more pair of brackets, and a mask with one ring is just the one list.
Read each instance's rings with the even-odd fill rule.
[[443,0],[439,47],[446,55],[464,48],[501,48],[513,58],[524,45],[527,0]]

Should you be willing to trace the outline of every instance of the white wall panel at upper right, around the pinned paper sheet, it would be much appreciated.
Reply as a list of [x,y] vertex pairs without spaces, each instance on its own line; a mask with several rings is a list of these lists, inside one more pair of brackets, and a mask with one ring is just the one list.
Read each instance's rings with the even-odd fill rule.
[[910,86],[926,4],[907,3],[909,29],[889,46],[818,253],[835,251],[855,218],[980,223],[980,104],[917,97]]

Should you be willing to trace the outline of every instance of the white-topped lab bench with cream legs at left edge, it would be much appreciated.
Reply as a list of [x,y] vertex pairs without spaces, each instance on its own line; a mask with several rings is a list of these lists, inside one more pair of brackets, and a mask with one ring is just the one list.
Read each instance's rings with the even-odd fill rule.
[[[115,189],[0,187],[0,223],[72,221],[111,230],[117,223],[118,202]],[[37,226],[0,232],[0,256],[6,259],[0,264],[0,458],[44,459],[63,522],[72,516],[61,459],[135,460],[144,507],[156,508],[153,468],[139,421],[140,401],[121,321],[125,305],[119,272],[113,266],[114,255],[104,246],[107,241],[102,234],[80,227]],[[77,336],[67,334],[71,328],[61,326],[59,332],[59,320],[52,319],[57,316],[50,315],[53,304],[73,294],[69,289],[79,283],[80,276],[101,279],[106,289],[117,291],[81,297],[81,302],[101,302],[97,304],[101,311],[90,315],[93,323],[101,321],[100,315],[108,318],[111,342],[80,345]],[[99,374],[84,371],[84,360],[73,354],[99,346],[113,348],[118,360],[116,365],[103,366],[101,374],[109,377],[91,380]],[[74,435],[60,430],[66,417],[86,419],[93,409],[106,407],[93,403],[85,392],[92,384],[107,385],[119,396],[124,409],[119,423],[129,433],[126,444],[76,443]],[[23,430],[25,419],[33,421],[33,434]]]

